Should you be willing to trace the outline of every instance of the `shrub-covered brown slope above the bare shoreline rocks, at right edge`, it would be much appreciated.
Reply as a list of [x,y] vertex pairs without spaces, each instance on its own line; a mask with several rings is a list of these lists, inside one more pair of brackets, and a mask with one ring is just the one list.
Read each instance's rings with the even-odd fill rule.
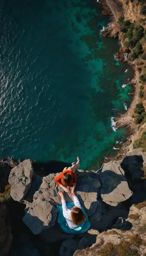
[[[125,5],[126,4],[126,5]],[[132,111],[134,122],[140,127],[146,122],[145,100],[146,100],[146,1],[126,0],[123,2],[123,9],[120,12],[118,22],[120,25],[120,38],[123,48],[127,49],[128,60],[139,73],[138,101]],[[142,126],[143,127],[143,126]],[[143,147],[146,150],[146,126],[142,128],[133,148]],[[145,177],[145,176],[144,176]]]

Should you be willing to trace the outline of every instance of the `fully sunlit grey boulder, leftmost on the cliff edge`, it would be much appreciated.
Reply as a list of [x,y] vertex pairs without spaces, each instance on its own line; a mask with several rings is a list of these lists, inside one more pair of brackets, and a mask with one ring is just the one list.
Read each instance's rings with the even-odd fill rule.
[[9,175],[10,195],[15,201],[19,202],[25,197],[31,186],[33,174],[33,166],[30,159],[26,159],[11,169]]

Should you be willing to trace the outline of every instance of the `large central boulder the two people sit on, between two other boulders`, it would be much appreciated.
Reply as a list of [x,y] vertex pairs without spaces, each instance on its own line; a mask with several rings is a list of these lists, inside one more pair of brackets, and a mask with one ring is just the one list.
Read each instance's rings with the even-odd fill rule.
[[[33,196],[33,203],[27,203],[26,215],[23,222],[34,234],[40,233],[45,228],[55,225],[57,220],[57,205],[61,204],[58,191],[62,190],[54,178],[59,174],[50,174],[43,177],[40,188]],[[88,216],[97,220],[101,218],[101,202],[97,200],[98,190],[101,187],[98,175],[93,172],[77,172],[76,195],[84,206]],[[72,202],[71,194],[65,193],[66,202]],[[95,214],[95,216],[94,216]]]

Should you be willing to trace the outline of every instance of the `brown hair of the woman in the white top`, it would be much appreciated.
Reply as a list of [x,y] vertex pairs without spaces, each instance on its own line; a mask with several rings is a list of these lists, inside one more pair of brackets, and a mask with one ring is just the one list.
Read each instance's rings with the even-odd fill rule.
[[77,226],[86,221],[84,212],[79,207],[74,207],[71,210],[71,220]]

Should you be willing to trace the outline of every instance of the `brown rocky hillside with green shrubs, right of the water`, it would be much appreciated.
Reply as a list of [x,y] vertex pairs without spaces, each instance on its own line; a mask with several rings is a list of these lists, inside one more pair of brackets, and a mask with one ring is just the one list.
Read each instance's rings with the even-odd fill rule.
[[[146,19],[142,11],[146,3],[140,0],[102,0],[102,4],[105,9],[103,14],[112,17],[112,23],[103,31],[103,36],[118,38],[121,48],[116,54],[117,60],[127,61],[135,70],[134,79],[130,81],[135,88],[133,101],[126,114],[116,119],[117,127],[127,126],[132,133],[130,140],[117,154],[120,158],[132,147],[143,147],[146,150]],[[137,104],[141,104],[142,112],[137,110]]]

